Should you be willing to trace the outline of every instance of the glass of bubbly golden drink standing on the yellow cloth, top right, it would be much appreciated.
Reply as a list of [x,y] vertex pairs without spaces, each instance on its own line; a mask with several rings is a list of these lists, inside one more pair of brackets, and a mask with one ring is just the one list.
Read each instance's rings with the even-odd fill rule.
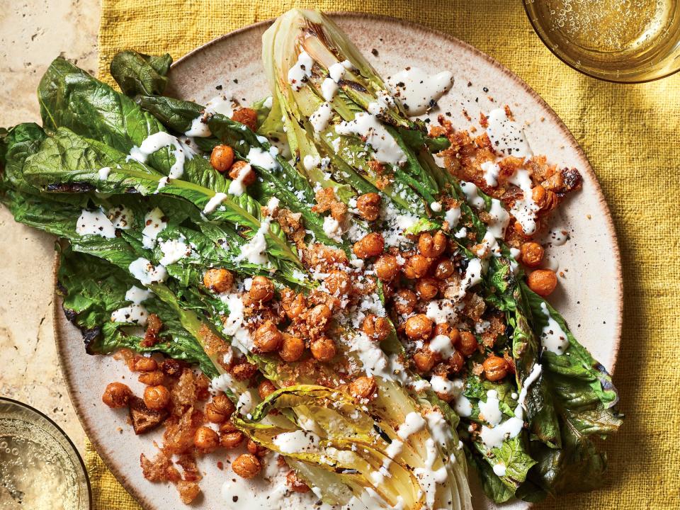
[[536,33],[592,77],[634,83],[680,69],[679,0],[524,0]]

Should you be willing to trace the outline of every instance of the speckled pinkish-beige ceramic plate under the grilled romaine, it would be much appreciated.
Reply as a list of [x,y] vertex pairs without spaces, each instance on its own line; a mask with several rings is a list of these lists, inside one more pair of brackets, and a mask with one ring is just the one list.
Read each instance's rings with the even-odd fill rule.
[[[584,177],[583,189],[573,194],[553,221],[553,227],[569,232],[570,240],[547,249],[564,273],[550,302],[562,312],[582,344],[613,370],[622,309],[616,234],[596,177],[582,149],[555,112],[508,69],[460,40],[393,18],[359,13],[333,17],[383,77],[409,65],[427,72],[453,72],[455,84],[439,101],[439,113],[450,113],[455,126],[467,128],[476,123],[480,112],[488,113],[508,104],[515,118],[526,125],[533,152],[547,154],[550,162],[560,166],[579,169]],[[181,58],[171,69],[172,89],[168,94],[205,103],[222,86],[233,91],[243,104],[268,96],[260,64],[260,38],[268,25],[269,22],[263,22],[237,30]],[[463,109],[472,122],[465,119]],[[142,393],[142,385],[111,356],[87,356],[79,331],[64,319],[61,310],[57,310],[55,317],[60,359],[70,395],[96,450],[145,509],[180,508],[174,487],[147,482],[142,477],[140,453],[154,455],[153,441],[160,433],[135,436],[126,422],[125,410],[108,409],[101,403],[109,382],[124,381],[137,395]],[[218,470],[216,454],[203,458],[200,467],[205,472],[201,482],[204,495],[192,508],[221,506],[220,487],[233,473],[228,468]],[[473,492],[475,509],[495,508],[479,489],[473,487]],[[528,504],[514,502],[503,507],[526,509]]]

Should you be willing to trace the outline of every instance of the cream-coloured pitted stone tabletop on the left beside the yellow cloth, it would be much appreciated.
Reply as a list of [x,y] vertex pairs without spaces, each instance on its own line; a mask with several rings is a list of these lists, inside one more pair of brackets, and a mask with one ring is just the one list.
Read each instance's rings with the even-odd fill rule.
[[[35,89],[57,55],[96,69],[98,24],[98,0],[0,0],[0,126],[39,122]],[[0,395],[45,412],[82,449],[52,329],[54,239],[3,207],[0,232]]]

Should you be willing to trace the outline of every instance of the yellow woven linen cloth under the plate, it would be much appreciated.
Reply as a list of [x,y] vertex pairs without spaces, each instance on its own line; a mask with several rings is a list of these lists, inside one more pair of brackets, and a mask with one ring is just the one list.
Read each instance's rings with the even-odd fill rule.
[[[118,50],[178,58],[294,6],[384,14],[455,35],[527,81],[572,130],[621,244],[625,306],[614,380],[628,417],[605,445],[606,487],[538,509],[680,508],[680,74],[627,86],[585,77],[540,42],[519,0],[103,0],[100,76],[107,79]],[[96,509],[137,509],[90,448],[86,459]]]

